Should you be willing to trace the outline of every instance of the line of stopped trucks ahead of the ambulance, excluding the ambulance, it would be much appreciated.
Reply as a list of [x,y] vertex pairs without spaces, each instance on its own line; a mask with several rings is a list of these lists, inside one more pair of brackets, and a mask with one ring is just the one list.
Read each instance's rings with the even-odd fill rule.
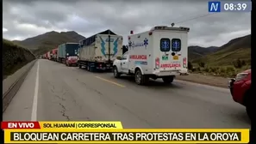
[[67,66],[76,65],[96,71],[113,69],[114,60],[121,57],[125,51],[128,51],[128,48],[122,45],[122,36],[106,30],[81,39],[78,43],[61,44],[42,57],[65,63]]

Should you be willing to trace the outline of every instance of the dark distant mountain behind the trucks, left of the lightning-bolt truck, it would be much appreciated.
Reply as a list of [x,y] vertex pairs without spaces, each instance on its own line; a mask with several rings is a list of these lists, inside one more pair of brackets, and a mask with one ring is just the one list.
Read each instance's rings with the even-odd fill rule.
[[81,39],[85,39],[84,36],[74,31],[60,33],[52,31],[33,38],[24,39],[22,41],[13,40],[12,42],[16,45],[28,48],[28,50],[33,51],[35,55],[41,55],[47,51],[53,50],[60,44],[66,42],[78,43]]

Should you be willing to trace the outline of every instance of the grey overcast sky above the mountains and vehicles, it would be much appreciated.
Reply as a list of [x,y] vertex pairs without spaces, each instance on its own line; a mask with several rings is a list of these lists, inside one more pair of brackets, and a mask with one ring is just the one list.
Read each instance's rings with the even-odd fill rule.
[[[241,0],[240,0],[241,1]],[[251,33],[250,13],[207,15],[206,0],[3,0],[3,38],[27,39],[49,31],[89,37],[106,29],[124,37],[156,25],[190,27],[189,44],[220,46]]]

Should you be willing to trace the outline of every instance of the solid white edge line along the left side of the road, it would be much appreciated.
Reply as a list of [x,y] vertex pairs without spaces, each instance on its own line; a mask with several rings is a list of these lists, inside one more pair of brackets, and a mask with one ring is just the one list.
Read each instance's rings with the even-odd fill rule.
[[31,121],[36,121],[37,119],[37,99],[38,99],[38,83],[39,83],[39,61],[37,63],[35,86],[34,86],[34,100],[32,105]]

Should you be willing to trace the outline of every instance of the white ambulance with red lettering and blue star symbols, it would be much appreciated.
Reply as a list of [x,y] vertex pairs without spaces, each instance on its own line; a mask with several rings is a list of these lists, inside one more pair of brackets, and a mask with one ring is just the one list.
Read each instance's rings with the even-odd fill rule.
[[[149,78],[172,83],[187,72],[189,27],[156,26],[144,33],[128,35],[128,51],[114,64],[114,76],[133,75],[138,85]],[[132,32],[132,31],[131,31]]]

